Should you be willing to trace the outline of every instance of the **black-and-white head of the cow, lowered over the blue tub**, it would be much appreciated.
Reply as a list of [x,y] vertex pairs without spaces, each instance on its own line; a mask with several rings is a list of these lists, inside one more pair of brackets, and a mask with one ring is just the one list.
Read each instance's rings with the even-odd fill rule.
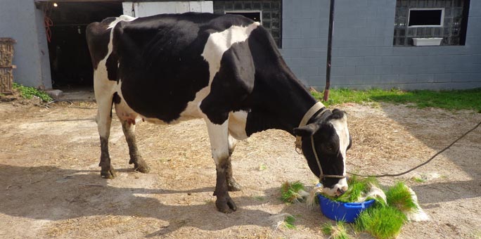
[[309,124],[295,128],[294,134],[302,137],[302,153],[311,171],[319,176],[323,192],[331,196],[344,193],[347,190],[346,151],[351,147],[345,112],[320,112]]

